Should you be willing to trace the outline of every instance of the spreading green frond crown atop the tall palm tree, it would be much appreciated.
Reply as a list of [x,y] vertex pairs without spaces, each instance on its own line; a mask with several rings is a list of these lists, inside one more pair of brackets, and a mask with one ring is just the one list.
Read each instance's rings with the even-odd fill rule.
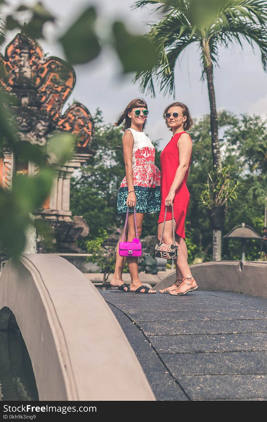
[[[198,0],[138,0],[135,8],[148,4],[168,6],[170,10],[156,24],[151,24],[146,37],[155,43],[158,62],[153,69],[138,73],[141,89],[155,95],[154,84],[160,90],[174,91],[174,68],[178,56],[192,42],[198,42],[201,49],[202,78],[205,76],[205,54],[213,64],[218,65],[218,45],[229,47],[238,43],[242,48],[243,40],[254,46],[256,43],[262,54],[262,65],[267,70],[267,2],[266,0],[225,0],[213,5],[213,20],[205,20],[201,26],[196,11],[202,7]],[[204,4],[204,3],[203,3]],[[196,8],[194,13],[192,9]],[[207,4],[203,5],[207,9]],[[215,13],[215,14],[214,14]],[[195,22],[194,22],[195,21]],[[207,22],[209,22],[207,24]],[[208,25],[208,26],[207,26]],[[208,45],[207,53],[203,45]]]

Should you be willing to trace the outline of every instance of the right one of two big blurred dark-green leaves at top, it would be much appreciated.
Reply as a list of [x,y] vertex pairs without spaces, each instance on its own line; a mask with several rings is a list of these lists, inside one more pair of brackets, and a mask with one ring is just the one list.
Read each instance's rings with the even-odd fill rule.
[[154,67],[158,58],[154,43],[142,35],[130,34],[122,22],[113,24],[113,34],[124,73],[142,72]]

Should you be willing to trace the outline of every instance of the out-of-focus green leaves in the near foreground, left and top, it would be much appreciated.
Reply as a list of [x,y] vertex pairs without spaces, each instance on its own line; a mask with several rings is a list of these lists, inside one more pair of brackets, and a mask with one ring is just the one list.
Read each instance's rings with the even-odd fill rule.
[[[3,5],[10,11],[5,22],[0,19],[0,44],[5,41],[8,30],[17,28],[25,35],[38,39],[44,38],[43,27],[47,22],[56,23],[56,16],[51,15],[42,3],[32,6],[21,4],[12,8],[1,0],[0,13]],[[86,7],[65,33],[58,36],[57,41],[70,64],[86,64],[95,59],[104,46],[108,46],[118,56],[122,73],[142,71],[154,65],[156,53],[150,41],[144,40],[141,35],[130,34],[122,22],[98,22],[97,32],[97,18],[96,9]],[[0,72],[2,74],[3,69]],[[17,256],[23,251],[25,229],[32,224],[29,213],[34,214],[50,192],[53,174],[46,165],[48,156],[56,155],[58,162],[64,164],[77,143],[77,139],[67,132],[54,134],[47,142],[46,149],[22,141],[11,114],[13,101],[16,101],[14,97],[0,92],[0,156],[4,146],[13,151],[17,161],[39,164],[40,175],[14,176],[11,192],[0,187],[0,245],[8,256]],[[35,223],[39,224],[39,233],[45,234],[46,229],[40,225],[40,221]]]

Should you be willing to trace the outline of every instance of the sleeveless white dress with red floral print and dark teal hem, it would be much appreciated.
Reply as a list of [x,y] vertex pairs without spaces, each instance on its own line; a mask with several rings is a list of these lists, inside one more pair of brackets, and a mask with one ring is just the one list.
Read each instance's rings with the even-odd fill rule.
[[[134,146],[132,149],[133,182],[137,203],[135,210],[138,213],[153,214],[159,212],[160,198],[160,171],[155,166],[155,148],[148,136],[135,129],[126,129],[132,132]],[[126,131],[125,131],[126,132]],[[124,133],[125,133],[124,132]],[[118,214],[126,214],[126,200],[128,196],[127,179],[121,182],[117,208]],[[129,208],[133,212],[133,208]]]

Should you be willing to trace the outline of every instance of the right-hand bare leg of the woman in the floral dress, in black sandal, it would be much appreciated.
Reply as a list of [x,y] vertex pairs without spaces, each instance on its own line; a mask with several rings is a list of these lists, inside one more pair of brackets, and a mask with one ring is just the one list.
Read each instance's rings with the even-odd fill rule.
[[[140,238],[140,235],[142,233],[142,226],[143,226],[143,218],[144,214],[137,213],[136,214],[136,223],[137,223],[137,230],[138,230],[138,237]],[[134,215],[130,214],[128,218],[128,242],[131,242],[132,239],[136,237],[135,234],[135,226],[134,226]],[[127,264],[131,276],[131,286],[130,290],[134,291],[138,289],[138,287],[142,286],[142,283],[139,279],[138,274],[138,257],[127,257]],[[144,290],[141,290],[141,293],[143,293]],[[156,290],[149,289],[149,293],[156,293]]]

